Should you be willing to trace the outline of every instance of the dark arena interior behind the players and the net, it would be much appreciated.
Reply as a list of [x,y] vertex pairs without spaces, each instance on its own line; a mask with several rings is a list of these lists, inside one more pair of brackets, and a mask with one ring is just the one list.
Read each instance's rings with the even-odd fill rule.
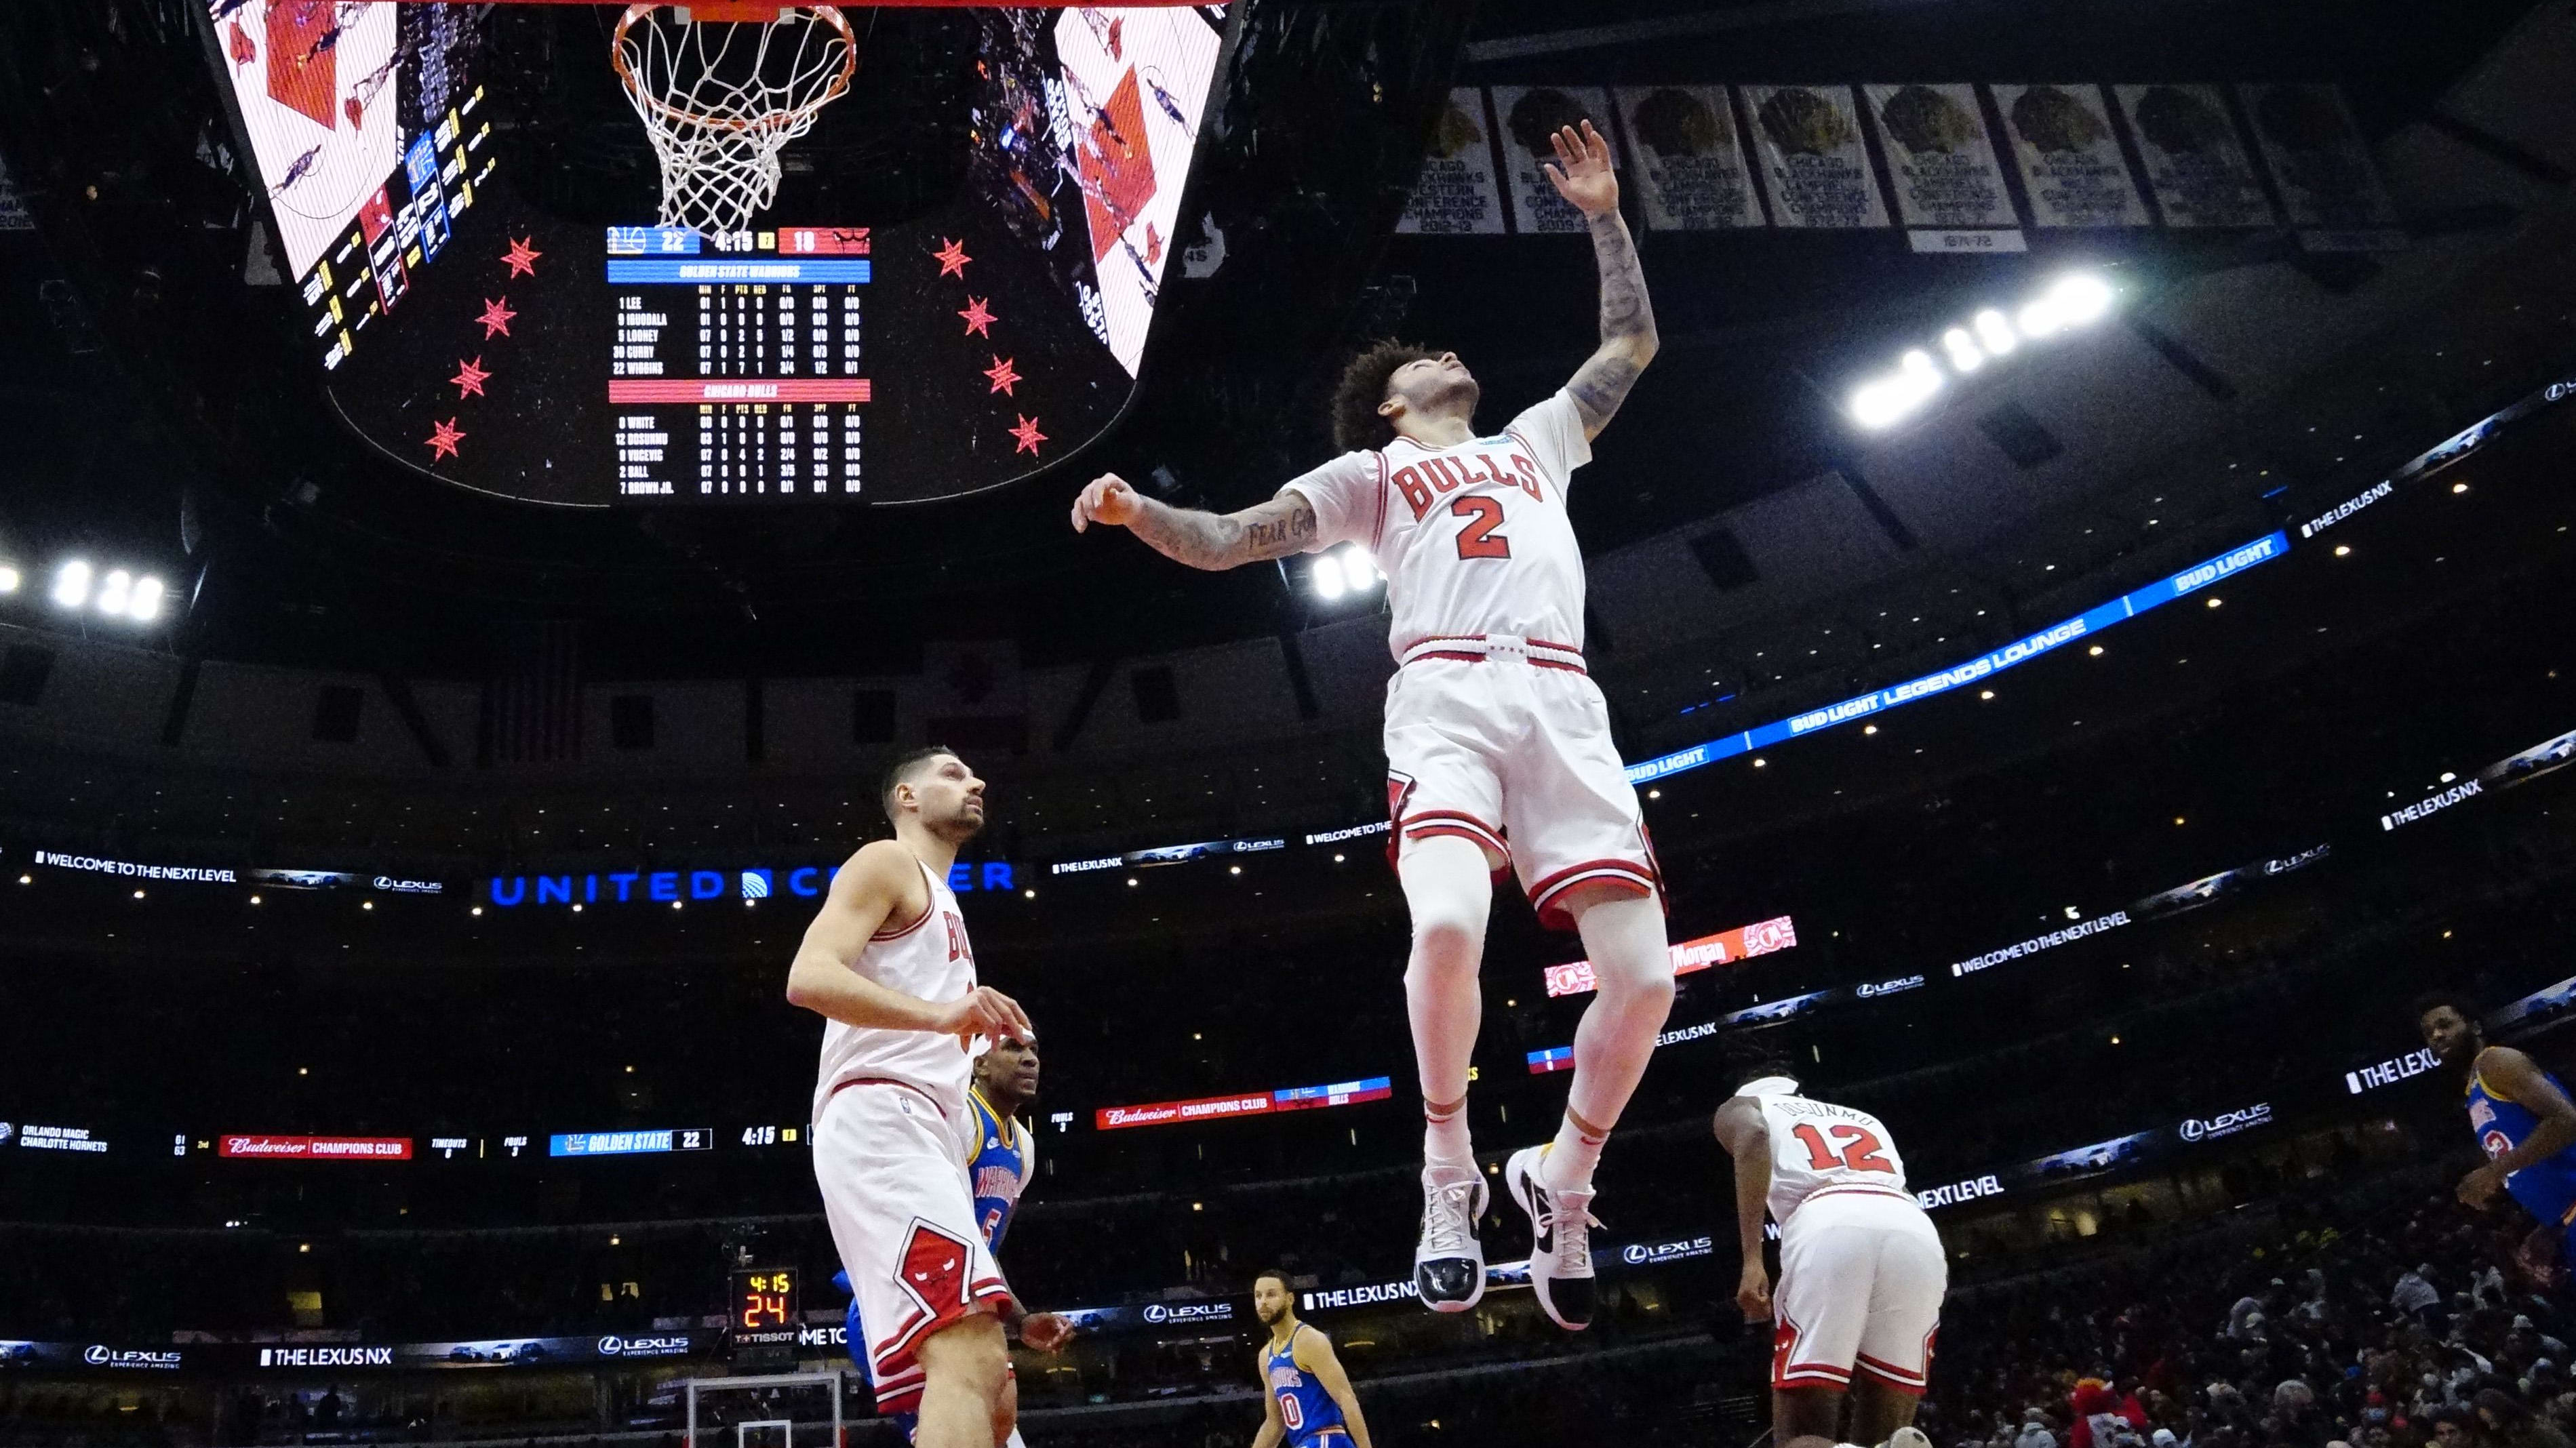
[[[613,5],[0,5],[0,1443],[902,1443],[783,984],[940,742],[1036,1448],[1252,1443],[1273,1265],[1381,1445],[1747,1448],[1747,1046],[1901,1141],[1935,1448],[2566,1448],[2568,1270],[2411,1010],[2576,1067],[2566,0],[845,15],[698,232]],[[1561,386],[1579,116],[1680,976],[1566,1335],[1499,1177],[1481,1306],[1409,1286],[1383,580],[1066,508],[1270,497],[1381,335]],[[1515,897],[1486,1170],[1592,984]]]

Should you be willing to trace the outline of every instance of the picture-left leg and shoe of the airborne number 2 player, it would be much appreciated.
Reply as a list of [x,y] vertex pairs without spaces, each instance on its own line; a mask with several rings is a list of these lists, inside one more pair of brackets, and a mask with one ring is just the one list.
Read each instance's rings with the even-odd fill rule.
[[1484,848],[1455,835],[1406,840],[1396,858],[1414,951],[1404,966],[1404,1005],[1422,1077],[1422,1237],[1414,1291],[1432,1311],[1466,1311],[1484,1299],[1486,1185],[1466,1131],[1466,1072],[1476,1054],[1484,995],[1484,922],[1494,881]]

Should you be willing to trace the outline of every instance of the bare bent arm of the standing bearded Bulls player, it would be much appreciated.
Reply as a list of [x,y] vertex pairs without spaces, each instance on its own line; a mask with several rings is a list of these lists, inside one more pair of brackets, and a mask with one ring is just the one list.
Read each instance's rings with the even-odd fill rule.
[[[920,902],[914,902],[920,891]],[[958,1038],[1033,1036],[1015,1000],[976,987],[958,1000],[930,1002],[871,982],[850,969],[886,920],[917,917],[930,910],[922,866],[904,845],[876,840],[850,855],[832,876],[822,912],[806,925],[788,966],[788,1002],[842,1025],[884,1031],[940,1031]]]

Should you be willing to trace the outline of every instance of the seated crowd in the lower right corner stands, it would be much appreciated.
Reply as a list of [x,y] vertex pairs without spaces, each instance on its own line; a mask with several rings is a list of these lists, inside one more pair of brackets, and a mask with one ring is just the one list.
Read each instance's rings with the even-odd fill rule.
[[1922,1427],[1940,1448],[2568,1448],[2561,1234],[2455,1203],[2473,1159],[1960,1291]]

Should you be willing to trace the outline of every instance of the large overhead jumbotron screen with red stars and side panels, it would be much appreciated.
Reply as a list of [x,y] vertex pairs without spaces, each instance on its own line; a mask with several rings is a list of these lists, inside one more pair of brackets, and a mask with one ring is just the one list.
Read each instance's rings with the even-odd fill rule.
[[953,206],[719,234],[652,227],[649,193],[605,229],[523,198],[474,10],[209,0],[327,402],[376,453],[574,508],[922,502],[1126,407],[1216,8],[976,10]]

